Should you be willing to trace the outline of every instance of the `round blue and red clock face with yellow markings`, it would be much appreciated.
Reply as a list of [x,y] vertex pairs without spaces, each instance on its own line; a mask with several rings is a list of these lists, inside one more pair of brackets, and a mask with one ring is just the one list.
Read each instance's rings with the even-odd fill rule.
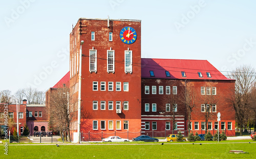
[[137,33],[132,27],[124,27],[120,31],[120,38],[126,44],[134,43],[137,39]]

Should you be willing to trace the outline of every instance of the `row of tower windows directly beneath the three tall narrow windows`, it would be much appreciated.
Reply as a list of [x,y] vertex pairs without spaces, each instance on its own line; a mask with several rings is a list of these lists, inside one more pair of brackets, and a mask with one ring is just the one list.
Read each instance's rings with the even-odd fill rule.
[[[121,91],[121,84],[122,82],[116,82],[116,91]],[[98,90],[98,81],[93,81],[93,90]],[[100,90],[105,91],[106,90],[106,82],[100,82]],[[108,82],[108,90],[114,91],[114,82]],[[123,91],[128,92],[129,91],[129,82],[123,82]]]

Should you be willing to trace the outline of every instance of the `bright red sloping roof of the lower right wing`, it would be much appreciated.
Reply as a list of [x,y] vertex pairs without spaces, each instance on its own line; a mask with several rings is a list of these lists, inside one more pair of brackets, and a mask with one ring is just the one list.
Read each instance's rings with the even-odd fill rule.
[[[155,76],[151,76],[150,71],[154,71]],[[170,77],[166,77],[165,71],[169,72]],[[181,72],[185,72],[186,77],[182,77]],[[201,72],[203,77],[199,77],[198,72]],[[207,77],[206,73],[210,73],[211,77]],[[151,58],[141,58],[141,78],[231,80],[207,60]]]

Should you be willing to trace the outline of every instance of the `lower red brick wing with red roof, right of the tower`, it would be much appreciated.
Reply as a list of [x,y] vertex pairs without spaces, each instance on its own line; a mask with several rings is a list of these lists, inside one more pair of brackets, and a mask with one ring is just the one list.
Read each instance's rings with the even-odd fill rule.
[[189,88],[194,103],[190,130],[205,133],[207,126],[216,133],[220,112],[220,129],[235,135],[235,112],[229,102],[234,96],[234,80],[227,79],[207,60],[143,58],[141,65],[141,129],[145,133],[163,137],[180,130],[187,135],[184,97]]

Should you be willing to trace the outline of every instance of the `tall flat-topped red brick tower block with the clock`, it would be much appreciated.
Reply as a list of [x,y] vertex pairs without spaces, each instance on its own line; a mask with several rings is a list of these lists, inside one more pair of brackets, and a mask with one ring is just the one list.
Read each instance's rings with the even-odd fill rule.
[[[80,18],[70,34],[71,130],[77,132],[80,41],[81,131],[91,139],[139,132],[141,125],[141,21]],[[103,133],[103,135],[102,135]],[[135,137],[136,133],[129,138]],[[124,137],[127,137],[125,135]]]

